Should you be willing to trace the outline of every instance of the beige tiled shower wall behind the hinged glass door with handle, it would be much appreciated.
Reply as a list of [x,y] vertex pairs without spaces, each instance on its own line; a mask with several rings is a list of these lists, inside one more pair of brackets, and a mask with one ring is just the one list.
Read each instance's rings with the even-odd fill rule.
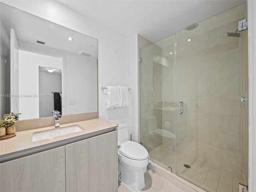
[[241,38],[238,21],[177,42],[178,150],[242,173]]

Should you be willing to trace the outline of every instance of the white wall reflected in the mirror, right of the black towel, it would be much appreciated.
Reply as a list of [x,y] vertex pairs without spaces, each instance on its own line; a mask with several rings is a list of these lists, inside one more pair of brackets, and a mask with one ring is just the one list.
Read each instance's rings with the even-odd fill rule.
[[[65,54],[64,95],[62,114],[97,111],[97,61],[78,54]],[[76,100],[76,104],[70,104]]]

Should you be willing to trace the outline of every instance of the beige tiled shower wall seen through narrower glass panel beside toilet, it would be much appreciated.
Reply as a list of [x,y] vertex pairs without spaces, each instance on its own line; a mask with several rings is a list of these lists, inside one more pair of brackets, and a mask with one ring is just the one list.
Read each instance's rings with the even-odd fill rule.
[[[174,52],[174,36],[169,42]],[[175,134],[175,110],[171,114],[163,110],[165,106],[175,107],[175,56],[152,44],[140,50],[140,58],[140,141],[150,152],[163,142],[169,143],[153,135],[152,130],[165,128]],[[170,122],[170,126],[165,127],[164,122]]]

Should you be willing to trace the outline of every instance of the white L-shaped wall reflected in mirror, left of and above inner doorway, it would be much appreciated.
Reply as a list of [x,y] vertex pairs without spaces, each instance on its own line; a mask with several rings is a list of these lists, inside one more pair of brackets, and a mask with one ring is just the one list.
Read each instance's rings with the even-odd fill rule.
[[20,120],[39,118],[38,67],[62,68],[62,58],[19,50]]

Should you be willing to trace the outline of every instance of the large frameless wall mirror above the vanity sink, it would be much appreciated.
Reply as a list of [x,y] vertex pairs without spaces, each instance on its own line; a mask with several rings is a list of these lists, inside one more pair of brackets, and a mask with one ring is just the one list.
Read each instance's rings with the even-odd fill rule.
[[0,118],[98,111],[98,40],[0,3]]

